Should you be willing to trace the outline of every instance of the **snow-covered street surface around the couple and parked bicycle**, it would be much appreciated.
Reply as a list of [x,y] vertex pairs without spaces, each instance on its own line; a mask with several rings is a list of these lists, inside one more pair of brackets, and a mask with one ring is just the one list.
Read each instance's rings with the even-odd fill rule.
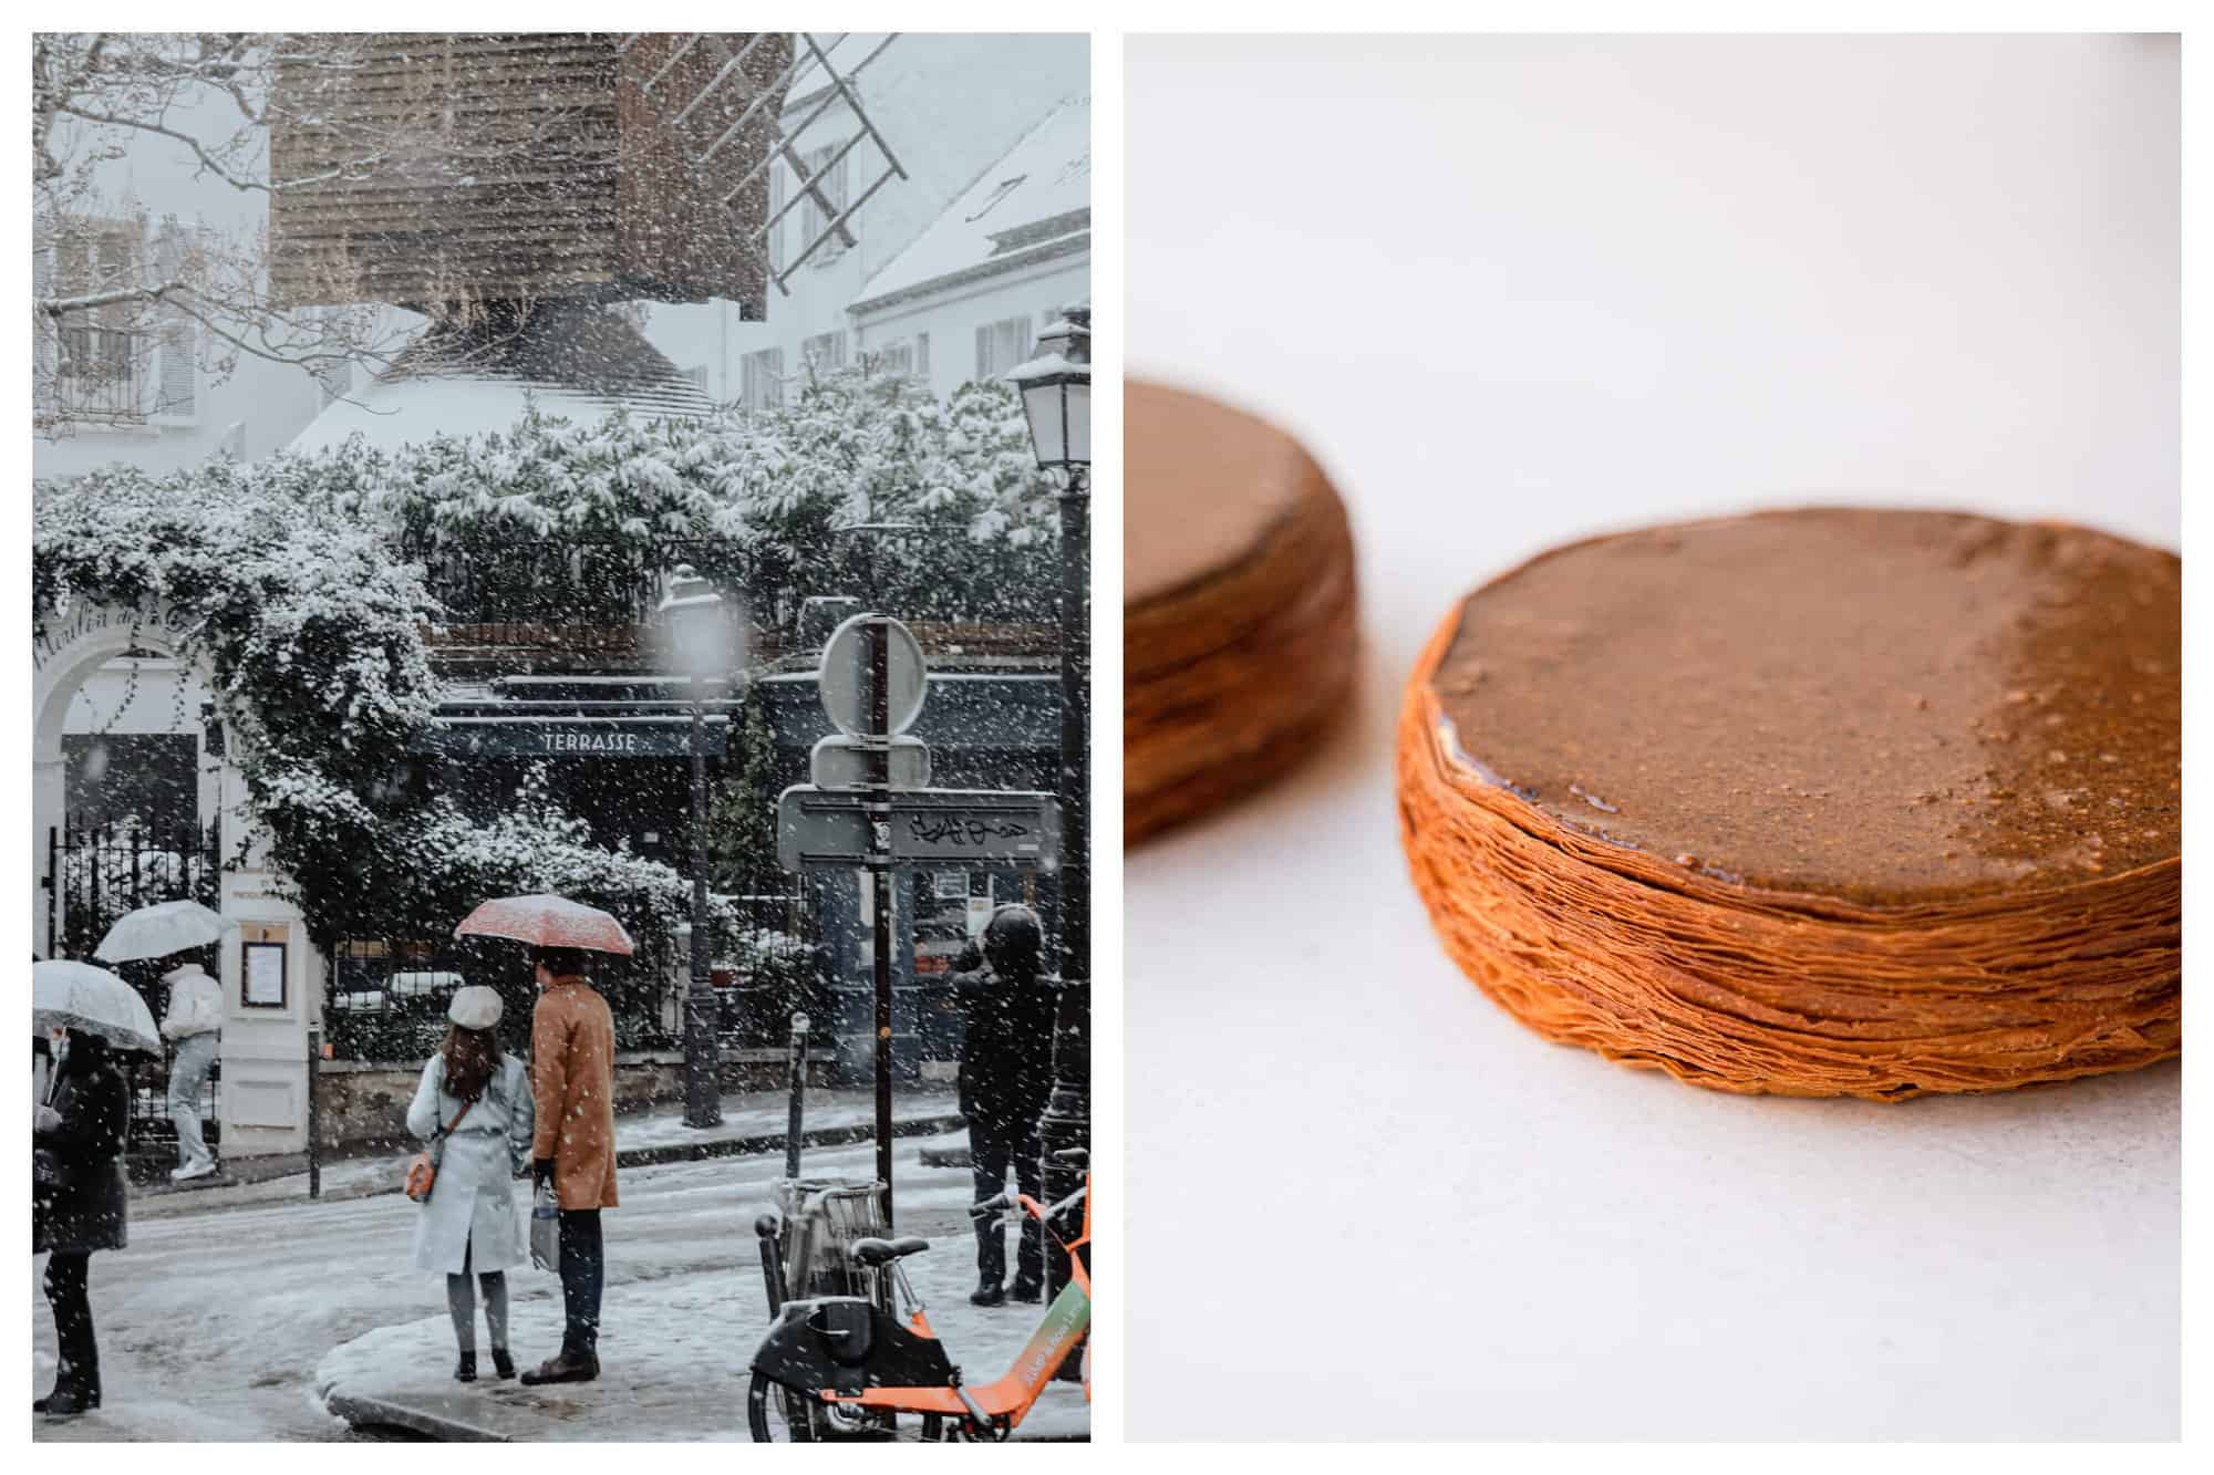
[[[899,1229],[932,1240],[908,1262],[954,1362],[996,1378],[1036,1327],[1038,1307],[976,1309],[968,1169],[921,1165],[899,1145]],[[808,1156],[808,1174],[866,1176],[872,1149]],[[523,1389],[452,1382],[454,1335],[436,1276],[407,1269],[410,1216],[396,1194],[350,1203],[177,1214],[133,1225],[131,1247],[93,1256],[106,1406],[33,1420],[35,1440],[343,1440],[321,1391],[425,1389],[505,1404],[503,1428],[547,1440],[744,1440],[746,1362],[768,1324],[757,1214],[782,1156],[622,1172],[607,1214],[609,1282],[593,1384]],[[33,1382],[53,1375],[53,1324],[31,1260]],[[520,1269],[514,1347],[525,1366],[560,1338],[560,1285]],[[478,1344],[483,1347],[483,1329]],[[542,1433],[529,1420],[542,1411]],[[1056,1384],[1025,1435],[1083,1435],[1083,1391]]]

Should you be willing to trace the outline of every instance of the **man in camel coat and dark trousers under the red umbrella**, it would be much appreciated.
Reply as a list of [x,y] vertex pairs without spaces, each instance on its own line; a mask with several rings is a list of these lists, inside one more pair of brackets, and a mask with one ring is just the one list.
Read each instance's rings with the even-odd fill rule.
[[560,1355],[523,1382],[591,1382],[600,1375],[600,1291],[607,1251],[600,1209],[615,1207],[615,1017],[584,979],[576,948],[538,950],[531,1012],[531,1185],[551,1178],[560,1198]]

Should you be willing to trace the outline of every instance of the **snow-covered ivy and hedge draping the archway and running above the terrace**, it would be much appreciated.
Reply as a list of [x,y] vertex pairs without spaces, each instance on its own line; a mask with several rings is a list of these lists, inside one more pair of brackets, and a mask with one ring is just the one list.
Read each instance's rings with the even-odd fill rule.
[[[689,915],[675,870],[591,844],[542,788],[492,824],[436,791],[416,751],[436,702],[425,629],[441,611],[401,549],[726,538],[793,589],[852,589],[846,563],[875,556],[892,565],[899,609],[899,589],[939,600],[928,613],[1034,589],[1049,613],[1052,492],[1005,385],[939,405],[859,374],[753,416],[529,414],[390,456],[111,467],[35,487],[33,629],[73,600],[173,611],[164,633],[213,667],[272,859],[323,946],[434,935],[516,890],[609,904],[653,937]],[[861,520],[943,536],[861,549],[830,532]]]

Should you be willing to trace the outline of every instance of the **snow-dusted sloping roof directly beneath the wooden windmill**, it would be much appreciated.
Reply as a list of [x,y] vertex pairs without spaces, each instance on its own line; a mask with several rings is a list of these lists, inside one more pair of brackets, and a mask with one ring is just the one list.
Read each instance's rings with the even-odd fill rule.
[[571,421],[609,410],[708,414],[715,405],[620,317],[580,303],[542,303],[527,323],[427,328],[345,399],[308,421],[290,450],[314,454],[361,434],[370,447],[421,445],[436,434],[507,430],[527,403]]

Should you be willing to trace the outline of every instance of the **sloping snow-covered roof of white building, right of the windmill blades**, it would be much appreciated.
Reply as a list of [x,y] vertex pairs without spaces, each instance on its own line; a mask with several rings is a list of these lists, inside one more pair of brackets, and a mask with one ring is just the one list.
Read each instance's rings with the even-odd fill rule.
[[1092,244],[1092,100],[1074,97],[992,168],[861,288],[852,312],[990,277]]

